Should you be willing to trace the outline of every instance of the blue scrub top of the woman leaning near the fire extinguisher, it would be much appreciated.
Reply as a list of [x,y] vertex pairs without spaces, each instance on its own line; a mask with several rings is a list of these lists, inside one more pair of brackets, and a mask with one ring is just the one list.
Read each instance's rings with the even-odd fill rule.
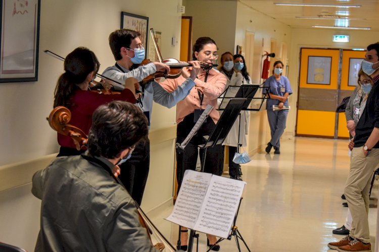
[[[291,85],[290,85],[290,81],[288,80],[287,77],[285,76],[280,76],[280,80],[277,81],[275,79],[275,76],[274,75],[271,75],[265,82],[264,86],[263,86],[263,91],[262,93],[265,94],[266,93],[266,89],[268,88],[268,93],[269,94],[273,94],[273,95],[277,95],[277,96],[281,96],[283,97],[285,95],[285,93],[289,93],[289,94],[292,94],[292,89],[291,89]],[[284,88],[285,91],[284,92],[281,92],[280,89]],[[276,100],[276,99],[267,99],[267,106],[266,108],[269,109],[269,110],[272,110],[272,105],[279,105],[279,100]],[[288,106],[288,99],[287,101],[284,103],[283,106]]]

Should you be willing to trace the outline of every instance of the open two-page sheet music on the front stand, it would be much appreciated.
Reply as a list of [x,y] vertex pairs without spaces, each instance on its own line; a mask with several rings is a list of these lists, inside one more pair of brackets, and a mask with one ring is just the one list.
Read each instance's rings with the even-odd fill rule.
[[227,238],[246,182],[187,170],[167,220]]

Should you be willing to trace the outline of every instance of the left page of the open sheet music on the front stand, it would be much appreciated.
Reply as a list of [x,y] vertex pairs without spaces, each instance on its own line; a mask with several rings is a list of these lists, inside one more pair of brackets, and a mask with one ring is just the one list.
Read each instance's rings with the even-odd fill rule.
[[186,170],[174,209],[166,220],[194,229],[212,174]]

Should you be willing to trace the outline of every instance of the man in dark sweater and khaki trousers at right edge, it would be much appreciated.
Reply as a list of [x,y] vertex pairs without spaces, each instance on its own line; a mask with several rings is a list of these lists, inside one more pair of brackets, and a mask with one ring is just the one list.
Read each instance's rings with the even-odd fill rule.
[[[350,171],[345,186],[345,197],[349,205],[353,223],[350,234],[329,245],[338,251],[370,251],[370,231],[368,227],[369,190],[374,170],[379,164],[379,42],[367,47],[362,70],[373,81],[366,107],[355,128]],[[330,247],[330,246],[329,246]]]

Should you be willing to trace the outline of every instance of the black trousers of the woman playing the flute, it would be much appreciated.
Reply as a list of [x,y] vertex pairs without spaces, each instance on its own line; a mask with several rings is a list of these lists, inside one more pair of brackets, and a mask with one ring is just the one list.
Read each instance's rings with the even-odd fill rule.
[[[177,126],[176,131],[176,143],[182,143],[188,136],[189,132],[194,127],[194,113],[184,117]],[[178,180],[178,192],[180,190],[181,182],[183,180],[185,170],[195,170],[198,160],[198,145],[204,144],[206,140],[203,136],[209,136],[215,128],[215,123],[208,117],[198,133],[192,138],[192,140],[184,148],[184,151],[176,149],[176,178]],[[203,154],[204,149],[200,149],[200,160],[203,166]],[[221,145],[216,145],[212,148],[207,148],[204,172],[212,173],[218,176],[222,174],[222,168],[224,163],[224,148]],[[203,167],[202,167],[203,170]]]

